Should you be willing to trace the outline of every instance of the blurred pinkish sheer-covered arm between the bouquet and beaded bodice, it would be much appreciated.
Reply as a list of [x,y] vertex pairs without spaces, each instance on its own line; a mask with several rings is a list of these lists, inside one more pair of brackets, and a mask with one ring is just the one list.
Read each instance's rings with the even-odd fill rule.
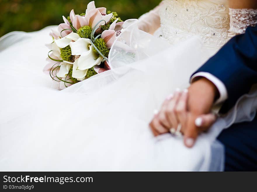
[[163,2],[161,2],[157,7],[148,13],[143,14],[138,19],[138,28],[147,33],[154,34],[154,32],[160,27],[161,20],[159,16],[159,9],[162,6]]

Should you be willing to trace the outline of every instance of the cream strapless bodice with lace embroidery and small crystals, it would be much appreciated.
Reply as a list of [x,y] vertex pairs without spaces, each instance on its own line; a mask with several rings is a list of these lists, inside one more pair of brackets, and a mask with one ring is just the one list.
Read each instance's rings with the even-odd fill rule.
[[171,44],[198,34],[207,46],[219,48],[229,39],[227,0],[164,0],[159,15],[157,33]]

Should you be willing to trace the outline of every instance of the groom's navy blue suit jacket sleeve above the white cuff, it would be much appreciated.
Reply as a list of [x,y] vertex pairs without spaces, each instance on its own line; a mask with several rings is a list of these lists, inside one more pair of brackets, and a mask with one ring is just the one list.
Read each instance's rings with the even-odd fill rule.
[[230,39],[198,72],[208,72],[223,82],[228,98],[220,112],[226,113],[257,83],[257,26]]

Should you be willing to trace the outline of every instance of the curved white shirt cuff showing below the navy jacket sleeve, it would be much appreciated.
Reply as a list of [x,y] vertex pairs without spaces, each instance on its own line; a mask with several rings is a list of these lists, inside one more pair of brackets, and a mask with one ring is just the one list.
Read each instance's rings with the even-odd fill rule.
[[223,82],[220,81],[220,79],[218,79],[217,77],[215,77],[211,73],[198,72],[191,77],[190,82],[192,82],[193,79],[196,78],[196,77],[205,77],[206,79],[209,79],[217,87],[217,89],[220,93],[220,97],[217,99],[215,104],[219,104],[219,103],[225,101],[228,98],[228,91],[227,91],[225,85],[223,84]]

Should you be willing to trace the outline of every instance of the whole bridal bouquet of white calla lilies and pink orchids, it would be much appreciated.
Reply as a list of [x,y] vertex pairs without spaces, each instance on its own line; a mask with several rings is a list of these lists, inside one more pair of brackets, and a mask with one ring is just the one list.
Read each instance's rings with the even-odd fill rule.
[[58,89],[110,70],[108,54],[124,23],[116,12],[95,8],[94,1],[85,13],[72,10],[70,16],[62,18],[58,31],[50,33],[53,42],[47,45],[51,51],[44,68],[58,82]]

